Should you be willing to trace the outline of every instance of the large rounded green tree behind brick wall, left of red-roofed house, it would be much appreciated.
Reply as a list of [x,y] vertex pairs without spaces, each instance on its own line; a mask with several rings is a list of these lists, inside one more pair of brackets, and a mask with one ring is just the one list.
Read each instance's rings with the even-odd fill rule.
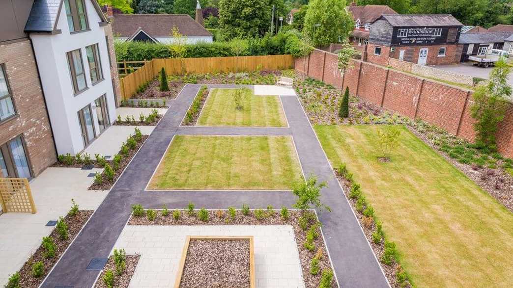
[[354,20],[346,11],[345,0],[311,0],[308,3],[303,33],[314,46],[328,46],[346,39],[354,29]]

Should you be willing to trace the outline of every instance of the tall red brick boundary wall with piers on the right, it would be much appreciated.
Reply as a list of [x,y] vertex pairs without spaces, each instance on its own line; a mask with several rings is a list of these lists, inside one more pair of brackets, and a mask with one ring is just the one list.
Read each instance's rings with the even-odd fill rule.
[[[322,80],[338,88],[349,87],[351,94],[386,110],[412,119],[421,118],[469,141],[476,136],[470,117],[471,90],[360,60],[351,60],[341,76],[337,54],[319,49],[295,59],[294,69],[304,77]],[[499,152],[513,157],[513,104],[508,105],[498,131]]]

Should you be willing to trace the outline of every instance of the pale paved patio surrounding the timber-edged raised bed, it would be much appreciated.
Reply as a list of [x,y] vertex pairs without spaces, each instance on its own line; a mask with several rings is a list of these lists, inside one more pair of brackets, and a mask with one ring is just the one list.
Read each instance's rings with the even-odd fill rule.
[[257,287],[304,287],[298,247],[289,225],[127,225],[114,248],[141,255],[130,287],[173,287],[187,235],[254,236]]

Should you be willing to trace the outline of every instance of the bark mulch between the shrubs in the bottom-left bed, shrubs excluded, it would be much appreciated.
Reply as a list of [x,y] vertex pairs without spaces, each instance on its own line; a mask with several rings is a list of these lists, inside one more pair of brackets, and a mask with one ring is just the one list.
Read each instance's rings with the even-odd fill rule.
[[[53,258],[46,259],[44,257],[45,249],[43,246],[37,248],[27,262],[23,264],[22,269],[19,270],[19,275],[21,276],[19,286],[24,288],[38,287],[92,214],[92,210],[79,210],[75,216],[70,216],[68,214],[64,217],[64,221],[68,225],[68,239],[62,240],[59,237],[57,230],[54,229],[52,233],[50,233],[50,237],[55,243],[55,256]],[[43,261],[45,268],[43,275],[35,278],[32,276],[32,265],[38,261]]]

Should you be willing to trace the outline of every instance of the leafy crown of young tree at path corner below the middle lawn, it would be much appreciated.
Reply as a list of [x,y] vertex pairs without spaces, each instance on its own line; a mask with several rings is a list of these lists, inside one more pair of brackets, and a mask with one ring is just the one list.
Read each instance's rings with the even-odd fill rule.
[[327,187],[326,182],[318,183],[317,177],[310,176],[306,181],[300,180],[295,182],[292,186],[292,194],[298,196],[298,200],[292,207],[301,210],[302,214],[311,209],[312,205],[315,208],[326,208],[330,210],[328,206],[321,203],[321,189]]

